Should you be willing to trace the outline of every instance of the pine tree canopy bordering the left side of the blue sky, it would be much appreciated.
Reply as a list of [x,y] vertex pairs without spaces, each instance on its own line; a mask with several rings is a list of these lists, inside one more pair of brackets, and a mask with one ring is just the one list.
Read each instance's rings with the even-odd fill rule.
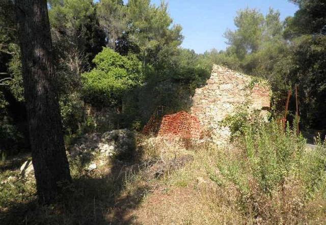
[[163,46],[178,47],[183,39],[181,26],[173,25],[165,2],[156,7],[150,0],[128,1],[129,40],[141,50],[143,64],[154,63]]

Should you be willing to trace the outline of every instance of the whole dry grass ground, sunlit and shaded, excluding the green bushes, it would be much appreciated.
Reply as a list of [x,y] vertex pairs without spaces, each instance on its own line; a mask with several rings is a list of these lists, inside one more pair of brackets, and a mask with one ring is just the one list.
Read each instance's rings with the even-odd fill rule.
[[39,207],[33,198],[33,209],[26,208],[31,204],[18,207],[24,210],[19,213],[9,208],[11,220],[0,216],[0,223],[324,224],[323,192],[307,198],[303,181],[289,176],[282,188],[266,194],[242,148],[201,143],[186,149],[182,143],[144,137],[137,142],[135,162],[73,173],[75,192],[67,204]]

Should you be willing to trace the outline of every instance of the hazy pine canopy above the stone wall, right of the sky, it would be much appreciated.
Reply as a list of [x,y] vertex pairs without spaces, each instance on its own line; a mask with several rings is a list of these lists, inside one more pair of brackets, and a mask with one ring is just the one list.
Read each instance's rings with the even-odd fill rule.
[[234,23],[237,29],[225,33],[230,46],[225,52],[229,59],[224,57],[223,61],[235,69],[274,81],[274,66],[287,48],[280,12],[269,9],[264,16],[247,8],[237,12]]

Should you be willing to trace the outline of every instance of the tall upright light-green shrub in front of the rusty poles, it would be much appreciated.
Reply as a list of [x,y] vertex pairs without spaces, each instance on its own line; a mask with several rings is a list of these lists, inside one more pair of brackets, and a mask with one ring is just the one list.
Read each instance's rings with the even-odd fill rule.
[[305,139],[276,121],[263,124],[258,131],[248,127],[244,131],[243,145],[249,166],[261,189],[271,193],[282,186],[291,171],[300,166]]

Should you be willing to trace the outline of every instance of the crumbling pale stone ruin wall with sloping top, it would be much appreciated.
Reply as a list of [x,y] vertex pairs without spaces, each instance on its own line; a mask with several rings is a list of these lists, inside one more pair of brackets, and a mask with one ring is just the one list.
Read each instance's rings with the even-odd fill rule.
[[215,143],[228,143],[230,131],[220,122],[246,102],[250,110],[261,110],[267,115],[270,107],[270,89],[266,84],[254,84],[252,77],[213,65],[211,77],[202,88],[197,88],[192,98],[191,113],[197,116],[203,129],[212,131]]

